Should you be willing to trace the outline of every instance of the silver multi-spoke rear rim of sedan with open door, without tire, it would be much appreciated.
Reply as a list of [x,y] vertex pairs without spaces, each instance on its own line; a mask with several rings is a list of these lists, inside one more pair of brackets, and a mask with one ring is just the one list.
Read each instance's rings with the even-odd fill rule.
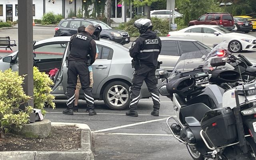
[[128,101],[129,92],[124,86],[115,85],[108,90],[107,98],[111,105],[120,107]]

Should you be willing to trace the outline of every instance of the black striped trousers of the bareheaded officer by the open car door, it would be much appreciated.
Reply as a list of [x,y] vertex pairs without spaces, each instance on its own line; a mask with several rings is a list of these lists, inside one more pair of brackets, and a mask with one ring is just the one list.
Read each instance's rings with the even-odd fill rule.
[[84,91],[84,98],[89,109],[94,109],[94,98],[92,97],[92,88],[90,87],[90,73],[86,62],[69,61],[68,66],[68,86],[67,86],[67,107],[72,109],[74,107],[75,90],[77,75],[79,75],[82,90]]

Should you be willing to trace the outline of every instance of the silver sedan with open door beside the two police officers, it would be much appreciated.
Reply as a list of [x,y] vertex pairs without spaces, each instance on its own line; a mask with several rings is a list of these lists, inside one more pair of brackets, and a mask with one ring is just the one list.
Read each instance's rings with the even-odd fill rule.
[[[67,72],[66,55],[69,48],[62,48],[60,44],[69,46],[70,36],[54,37],[36,42],[34,45],[34,66],[39,70],[48,73],[54,68],[58,72],[54,76],[52,95],[56,99],[66,100]],[[113,110],[122,110],[129,106],[129,87],[132,82],[134,69],[128,48],[109,40],[96,40],[99,50],[98,59],[92,65],[94,84],[92,94],[95,100],[104,100],[106,106]],[[0,70],[8,68],[18,70],[18,51],[0,58]],[[159,85],[162,84],[159,81]],[[80,99],[84,99],[83,91],[80,92]],[[146,84],[142,85],[141,98],[151,96]]]

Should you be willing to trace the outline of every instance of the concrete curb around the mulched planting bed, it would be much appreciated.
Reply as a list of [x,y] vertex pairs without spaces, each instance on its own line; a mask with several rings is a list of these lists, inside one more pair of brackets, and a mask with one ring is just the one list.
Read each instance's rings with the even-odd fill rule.
[[0,160],[94,160],[92,133],[87,124],[52,122],[51,126],[76,126],[81,131],[81,148],[68,151],[7,151]]

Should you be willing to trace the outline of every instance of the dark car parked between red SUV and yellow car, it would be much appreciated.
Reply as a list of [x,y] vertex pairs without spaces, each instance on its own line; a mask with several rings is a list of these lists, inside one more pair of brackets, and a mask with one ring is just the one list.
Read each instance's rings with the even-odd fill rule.
[[246,18],[234,17],[234,24],[237,31],[249,33],[252,30],[252,21],[248,21]]

